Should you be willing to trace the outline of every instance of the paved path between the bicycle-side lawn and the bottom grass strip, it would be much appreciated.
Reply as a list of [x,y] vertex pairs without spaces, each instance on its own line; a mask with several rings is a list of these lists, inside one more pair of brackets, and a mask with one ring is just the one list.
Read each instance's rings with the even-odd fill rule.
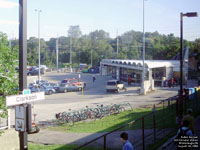
[[[120,134],[123,131],[116,131],[106,136],[106,145],[110,148],[117,148],[121,147],[121,139]],[[137,147],[137,149],[142,149],[142,134],[141,130],[128,130],[126,131],[129,133],[129,140],[133,142],[134,147]],[[153,129],[145,129],[145,134],[151,134],[153,132]],[[66,133],[66,132],[58,132],[58,131],[50,131],[50,130],[41,130],[37,134],[30,134],[28,136],[28,141],[32,143],[39,143],[39,144],[60,144],[60,145],[66,145],[66,144],[72,144],[72,145],[82,145],[85,144],[97,137],[102,136],[107,132],[102,133]],[[152,136],[149,137],[150,139],[153,138]],[[139,142],[134,142],[139,141]],[[151,141],[151,140],[150,140]],[[90,146],[97,146],[102,147],[104,144],[104,138],[89,144]]]

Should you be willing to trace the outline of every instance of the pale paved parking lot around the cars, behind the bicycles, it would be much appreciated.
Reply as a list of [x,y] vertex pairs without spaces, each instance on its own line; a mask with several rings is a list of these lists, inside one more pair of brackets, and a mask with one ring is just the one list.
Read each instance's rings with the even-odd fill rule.
[[[129,102],[133,108],[157,103],[160,100],[166,99],[177,94],[177,88],[156,88],[155,91],[148,93],[145,96],[139,95],[139,88],[135,86],[128,86],[127,91],[120,91],[119,93],[107,93],[106,82],[112,79],[109,76],[100,76],[95,74],[96,81],[93,83],[93,74],[80,73],[81,80],[86,82],[84,91],[55,93],[53,95],[46,95],[45,100],[35,102],[33,104],[33,114],[36,114],[36,122],[48,121],[55,119],[55,114],[58,112],[67,111],[68,109],[78,110],[85,106],[96,107],[98,104],[109,105]],[[79,73],[57,73],[50,72],[42,75],[42,80],[58,83],[66,78],[78,78]],[[28,84],[37,80],[37,76],[28,76]],[[14,124],[14,111],[11,115]]]

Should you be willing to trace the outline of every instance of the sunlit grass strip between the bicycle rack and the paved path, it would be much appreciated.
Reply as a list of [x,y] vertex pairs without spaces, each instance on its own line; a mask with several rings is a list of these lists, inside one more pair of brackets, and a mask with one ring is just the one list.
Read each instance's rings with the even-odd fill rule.
[[[106,116],[102,119],[96,120],[96,121],[83,121],[83,122],[76,122],[74,126],[68,126],[67,124],[58,125],[56,127],[49,127],[49,130],[56,130],[56,131],[64,131],[64,132],[73,132],[73,133],[99,133],[99,132],[109,132],[112,131],[118,127],[121,127],[122,125],[136,120],[145,114],[151,112],[151,108],[138,108],[131,111],[125,111],[118,115],[111,115]],[[161,110],[161,108],[157,108],[156,110],[156,119],[159,122],[163,123],[163,120],[159,121],[161,118],[163,118],[163,115],[165,118],[167,118],[165,122],[165,127],[174,127],[175,125],[175,119],[172,117],[174,115],[174,110],[169,113],[164,114],[164,111]],[[173,121],[169,121],[170,119],[173,119]],[[123,130],[131,130],[131,129],[141,129],[141,120],[136,121],[133,125],[123,129]],[[153,128],[153,121],[152,121],[152,115],[145,117],[145,128]]]

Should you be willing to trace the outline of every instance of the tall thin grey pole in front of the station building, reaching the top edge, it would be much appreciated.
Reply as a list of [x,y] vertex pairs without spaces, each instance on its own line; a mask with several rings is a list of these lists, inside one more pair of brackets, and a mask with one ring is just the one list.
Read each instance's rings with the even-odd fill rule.
[[145,89],[144,89],[144,77],[145,77],[145,66],[144,66],[144,61],[145,61],[145,31],[144,31],[144,1],[143,0],[143,52],[142,52],[142,64],[143,64],[143,68],[142,68],[142,88],[141,88],[141,94],[145,94]]

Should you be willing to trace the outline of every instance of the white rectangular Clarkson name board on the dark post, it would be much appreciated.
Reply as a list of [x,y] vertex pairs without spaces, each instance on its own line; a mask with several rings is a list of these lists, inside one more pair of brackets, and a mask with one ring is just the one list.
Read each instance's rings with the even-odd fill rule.
[[6,96],[6,106],[16,106],[44,99],[44,92]]

